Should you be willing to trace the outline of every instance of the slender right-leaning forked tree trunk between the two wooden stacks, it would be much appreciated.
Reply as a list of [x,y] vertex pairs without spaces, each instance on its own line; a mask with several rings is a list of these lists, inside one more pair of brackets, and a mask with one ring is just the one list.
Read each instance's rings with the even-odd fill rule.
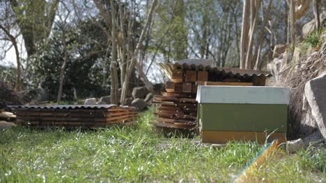
[[[148,28],[148,25],[150,24],[150,22],[152,20],[156,4],[157,4],[157,0],[154,0],[153,3],[152,3],[152,6],[150,7],[150,11],[148,12],[148,17],[146,19],[145,26],[143,27],[143,30],[141,30],[141,35],[139,37],[139,41],[137,43],[136,49],[134,50],[134,53],[132,54],[133,56],[132,56],[129,67],[127,68],[127,73],[125,74],[125,81],[123,82],[123,89],[122,89],[122,92],[121,92],[121,101],[123,101],[123,104],[125,103],[124,98],[126,98],[126,96],[127,96],[127,90],[128,90],[129,80],[130,80],[130,76],[132,74],[132,70],[134,69],[135,66],[136,67],[138,66],[136,57],[139,54],[139,50],[141,49],[143,38],[145,37],[145,33],[146,33],[147,28]],[[142,78],[145,86],[147,87],[148,91],[151,92],[151,93],[154,93],[153,85],[152,85],[152,83],[150,83],[148,81],[148,78],[143,73],[142,68],[138,66],[137,70],[138,70],[139,76],[141,76],[141,78]]]

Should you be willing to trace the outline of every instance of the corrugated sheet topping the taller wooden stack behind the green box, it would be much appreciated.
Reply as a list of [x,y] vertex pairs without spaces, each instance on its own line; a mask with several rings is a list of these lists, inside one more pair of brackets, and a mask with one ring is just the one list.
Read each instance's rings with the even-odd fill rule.
[[238,68],[227,68],[227,67],[211,67],[210,65],[203,65],[203,64],[179,64],[179,63],[168,63],[168,67],[173,69],[188,69],[188,70],[197,70],[197,71],[210,71],[213,73],[220,73],[223,75],[231,75],[231,76],[244,76],[244,77],[251,77],[251,76],[265,76],[271,77],[272,73],[266,71],[257,71],[251,69],[238,69]]

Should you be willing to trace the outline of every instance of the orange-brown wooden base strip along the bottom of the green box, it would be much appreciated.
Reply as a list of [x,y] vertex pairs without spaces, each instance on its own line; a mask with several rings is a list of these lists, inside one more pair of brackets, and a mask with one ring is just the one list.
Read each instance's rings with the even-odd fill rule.
[[[268,134],[265,132],[243,132],[243,131],[201,131],[201,141],[203,143],[227,143],[233,140],[244,141],[258,141],[258,143],[265,143]],[[272,139],[286,139],[284,132],[274,132],[270,135]]]

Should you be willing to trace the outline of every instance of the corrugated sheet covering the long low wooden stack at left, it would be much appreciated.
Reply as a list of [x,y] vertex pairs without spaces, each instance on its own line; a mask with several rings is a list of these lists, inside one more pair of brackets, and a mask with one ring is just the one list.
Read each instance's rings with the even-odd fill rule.
[[[8,107],[17,109],[109,109],[118,105],[8,105]],[[127,106],[118,106],[127,107]]]

